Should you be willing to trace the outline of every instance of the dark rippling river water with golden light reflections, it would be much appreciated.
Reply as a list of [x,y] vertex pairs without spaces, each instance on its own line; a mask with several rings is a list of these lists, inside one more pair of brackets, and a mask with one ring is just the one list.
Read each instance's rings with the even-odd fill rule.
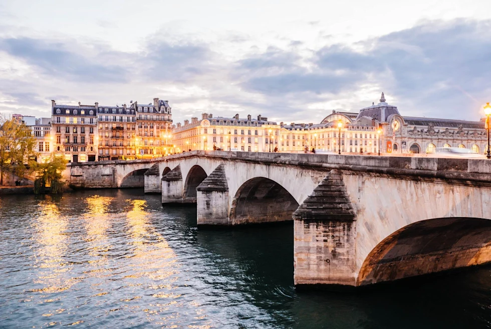
[[489,328],[491,267],[293,286],[293,224],[201,230],[142,190],[0,198],[0,327]]

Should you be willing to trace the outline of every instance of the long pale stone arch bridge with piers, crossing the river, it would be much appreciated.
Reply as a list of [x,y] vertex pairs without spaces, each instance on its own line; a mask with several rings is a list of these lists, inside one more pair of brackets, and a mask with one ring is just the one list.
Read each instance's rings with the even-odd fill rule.
[[[149,169],[149,170],[147,170]],[[71,164],[72,187],[197,203],[198,227],[294,221],[295,284],[366,285],[491,261],[491,161],[192,151]]]

